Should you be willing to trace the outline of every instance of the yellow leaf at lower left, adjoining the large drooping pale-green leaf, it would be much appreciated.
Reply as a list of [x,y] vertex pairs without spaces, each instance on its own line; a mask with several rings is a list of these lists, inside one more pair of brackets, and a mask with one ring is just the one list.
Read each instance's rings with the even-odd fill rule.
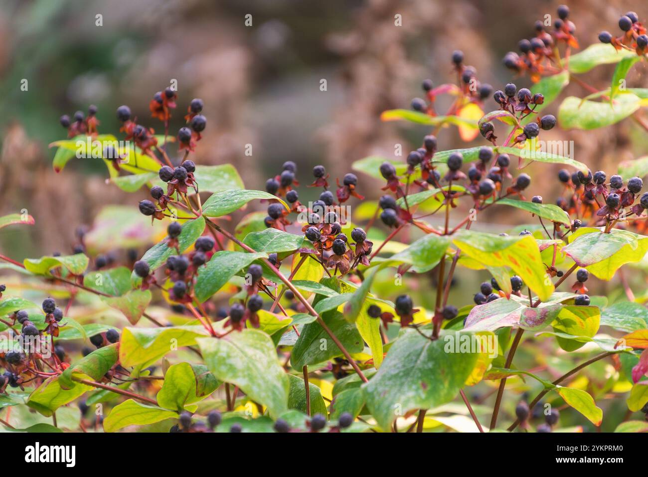
[[119,362],[126,367],[145,367],[174,349],[195,345],[196,338],[206,334],[202,325],[124,328],[119,341]]

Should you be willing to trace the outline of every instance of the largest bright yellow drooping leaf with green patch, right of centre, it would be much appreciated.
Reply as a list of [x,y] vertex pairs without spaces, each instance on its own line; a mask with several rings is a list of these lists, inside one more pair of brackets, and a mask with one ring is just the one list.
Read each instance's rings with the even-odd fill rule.
[[472,230],[461,230],[452,242],[463,254],[489,267],[510,267],[540,300],[553,293],[553,283],[548,280],[540,250],[531,236],[498,236]]

